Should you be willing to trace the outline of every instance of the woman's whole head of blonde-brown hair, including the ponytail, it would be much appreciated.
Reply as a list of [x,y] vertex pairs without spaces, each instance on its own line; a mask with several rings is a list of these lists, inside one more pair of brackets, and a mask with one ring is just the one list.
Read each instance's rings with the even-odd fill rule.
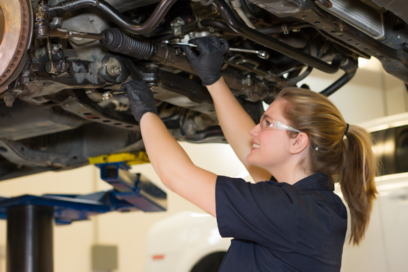
[[320,93],[291,87],[280,91],[275,99],[287,102],[282,112],[289,126],[309,137],[310,156],[302,162],[303,167],[340,182],[352,220],[349,243],[358,245],[370,222],[377,194],[374,178],[378,167],[371,148],[372,136],[361,127],[349,125],[345,137],[347,123],[337,107]]

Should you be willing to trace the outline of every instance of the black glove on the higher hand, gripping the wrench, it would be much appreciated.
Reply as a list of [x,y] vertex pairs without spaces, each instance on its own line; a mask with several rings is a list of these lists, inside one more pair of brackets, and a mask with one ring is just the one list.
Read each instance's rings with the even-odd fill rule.
[[227,40],[218,39],[216,36],[195,38],[188,43],[197,45],[199,56],[192,52],[187,45],[183,46],[184,52],[192,69],[202,80],[204,86],[216,83],[221,77],[221,67],[224,63],[224,54],[229,50]]

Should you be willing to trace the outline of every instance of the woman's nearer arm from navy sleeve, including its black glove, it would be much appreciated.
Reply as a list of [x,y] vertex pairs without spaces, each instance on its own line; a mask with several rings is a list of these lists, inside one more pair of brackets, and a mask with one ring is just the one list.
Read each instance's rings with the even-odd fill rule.
[[144,83],[131,80],[122,84],[130,109],[140,130],[151,165],[163,184],[216,216],[216,174],[195,166],[157,115],[153,92]]

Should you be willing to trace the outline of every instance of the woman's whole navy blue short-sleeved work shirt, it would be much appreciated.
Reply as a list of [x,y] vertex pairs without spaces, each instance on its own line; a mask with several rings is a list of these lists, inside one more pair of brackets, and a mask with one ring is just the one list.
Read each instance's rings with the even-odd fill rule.
[[220,272],[340,271],[347,211],[328,176],[290,185],[218,176],[222,237],[233,237]]

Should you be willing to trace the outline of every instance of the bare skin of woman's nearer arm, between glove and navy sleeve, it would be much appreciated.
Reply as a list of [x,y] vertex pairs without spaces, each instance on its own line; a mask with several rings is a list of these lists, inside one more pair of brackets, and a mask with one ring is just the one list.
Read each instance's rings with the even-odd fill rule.
[[194,165],[156,114],[144,114],[140,129],[151,165],[163,184],[216,217],[217,175]]

